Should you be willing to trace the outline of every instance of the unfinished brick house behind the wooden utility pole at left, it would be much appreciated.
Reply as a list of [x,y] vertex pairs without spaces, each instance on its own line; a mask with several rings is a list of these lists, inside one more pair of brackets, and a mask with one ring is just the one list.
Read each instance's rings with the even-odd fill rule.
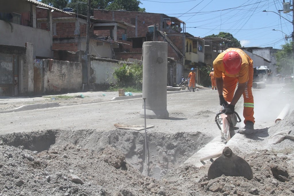
[[[47,11],[44,9],[37,9],[37,28],[47,30],[49,23],[46,19]],[[91,56],[98,58],[116,59],[113,48],[118,48],[118,42],[109,39],[109,34],[106,36],[98,36],[94,34],[104,29],[118,29],[126,31],[127,26],[134,28],[134,26],[126,24],[122,21],[107,21],[91,19],[90,28],[90,43],[89,53]],[[52,50],[66,50],[66,51],[85,51],[86,50],[86,32],[87,20],[86,16],[73,13],[52,13],[52,27],[53,27],[53,44]],[[116,37],[116,36],[114,36]]]

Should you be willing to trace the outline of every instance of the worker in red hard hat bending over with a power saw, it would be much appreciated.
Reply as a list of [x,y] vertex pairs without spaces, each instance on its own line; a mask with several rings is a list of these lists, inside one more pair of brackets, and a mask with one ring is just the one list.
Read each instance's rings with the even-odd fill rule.
[[[251,134],[254,130],[254,102],[252,95],[253,61],[241,49],[228,48],[213,61],[214,77],[220,105],[224,105],[225,114],[233,114],[235,105],[243,94],[245,127],[239,130],[241,134]],[[234,94],[236,84],[237,90]],[[228,103],[230,102],[230,103]]]

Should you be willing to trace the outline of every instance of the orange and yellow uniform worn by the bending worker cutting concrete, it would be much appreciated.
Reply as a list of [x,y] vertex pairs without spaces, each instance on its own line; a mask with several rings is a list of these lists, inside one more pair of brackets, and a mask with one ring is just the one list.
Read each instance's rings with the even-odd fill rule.
[[[237,52],[242,58],[241,69],[236,74],[229,74],[225,71],[223,65],[223,56],[228,51]],[[228,48],[224,52],[220,53],[216,59],[213,61],[213,71],[214,77],[220,78],[223,77],[223,97],[226,101],[231,102],[234,96],[235,88],[237,82],[245,83],[246,86],[243,92],[244,98],[244,109],[243,116],[245,118],[244,123],[249,120],[255,123],[254,114],[254,102],[252,95],[252,81],[253,81],[253,61],[252,59],[242,50],[238,48]]]

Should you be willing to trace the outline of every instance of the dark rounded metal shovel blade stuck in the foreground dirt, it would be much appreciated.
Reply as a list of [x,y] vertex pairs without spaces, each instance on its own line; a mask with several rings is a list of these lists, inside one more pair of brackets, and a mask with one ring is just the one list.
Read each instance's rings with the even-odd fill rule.
[[208,169],[208,180],[225,176],[243,176],[248,180],[253,178],[250,165],[241,157],[235,155],[229,147],[223,149],[223,154],[211,163]]

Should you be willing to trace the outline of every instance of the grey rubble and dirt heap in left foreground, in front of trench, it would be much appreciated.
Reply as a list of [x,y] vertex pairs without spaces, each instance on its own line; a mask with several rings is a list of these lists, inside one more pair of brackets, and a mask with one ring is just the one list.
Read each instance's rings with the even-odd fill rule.
[[23,146],[0,146],[1,195],[119,196],[166,192],[156,180],[127,163],[124,169],[106,163],[105,157],[113,155],[110,146],[103,156],[72,144],[40,153],[22,149]]

